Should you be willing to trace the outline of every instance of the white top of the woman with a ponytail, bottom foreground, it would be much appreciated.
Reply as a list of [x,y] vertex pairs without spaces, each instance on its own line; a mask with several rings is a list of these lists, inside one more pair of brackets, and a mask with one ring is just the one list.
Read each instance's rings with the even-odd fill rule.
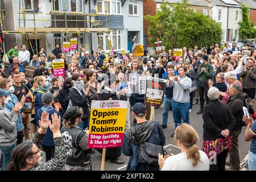
[[170,156],[164,162],[162,171],[209,171],[210,162],[207,155],[203,151],[199,151],[199,154],[201,162],[195,167],[193,166],[193,160],[187,159],[185,152]]

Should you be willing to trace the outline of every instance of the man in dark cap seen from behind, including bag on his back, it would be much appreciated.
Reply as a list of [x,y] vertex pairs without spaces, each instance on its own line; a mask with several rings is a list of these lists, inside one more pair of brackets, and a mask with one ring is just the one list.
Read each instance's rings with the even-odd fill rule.
[[146,120],[146,107],[138,102],[131,107],[137,123],[125,132],[122,153],[130,156],[127,171],[159,171],[158,154],[163,154],[166,143],[158,122]]

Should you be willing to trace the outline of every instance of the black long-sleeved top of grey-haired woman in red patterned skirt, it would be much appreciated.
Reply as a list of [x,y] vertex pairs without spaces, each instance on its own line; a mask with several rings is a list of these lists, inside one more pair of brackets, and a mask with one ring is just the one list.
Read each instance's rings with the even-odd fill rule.
[[236,125],[236,119],[229,107],[219,100],[212,100],[203,109],[203,140],[215,140],[225,138],[221,135],[222,130],[232,131]]

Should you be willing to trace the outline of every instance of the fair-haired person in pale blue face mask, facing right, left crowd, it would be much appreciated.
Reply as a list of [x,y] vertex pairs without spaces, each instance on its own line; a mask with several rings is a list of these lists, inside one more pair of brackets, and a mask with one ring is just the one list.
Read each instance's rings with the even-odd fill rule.
[[[36,79],[36,84],[38,85],[38,88],[34,90],[34,96],[35,96],[35,113],[38,113],[38,110],[44,106],[42,101],[42,95],[44,93],[47,93],[49,91],[49,82],[45,76],[39,76]],[[40,118],[38,118],[37,115],[35,115],[36,125],[39,126]]]

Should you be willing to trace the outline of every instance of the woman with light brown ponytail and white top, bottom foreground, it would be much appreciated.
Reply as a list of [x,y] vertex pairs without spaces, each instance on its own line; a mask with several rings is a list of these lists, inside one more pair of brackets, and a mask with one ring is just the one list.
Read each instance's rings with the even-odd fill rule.
[[176,127],[174,140],[181,153],[172,156],[159,154],[159,166],[162,171],[209,171],[209,159],[203,151],[199,151],[196,142],[199,136],[188,124]]

